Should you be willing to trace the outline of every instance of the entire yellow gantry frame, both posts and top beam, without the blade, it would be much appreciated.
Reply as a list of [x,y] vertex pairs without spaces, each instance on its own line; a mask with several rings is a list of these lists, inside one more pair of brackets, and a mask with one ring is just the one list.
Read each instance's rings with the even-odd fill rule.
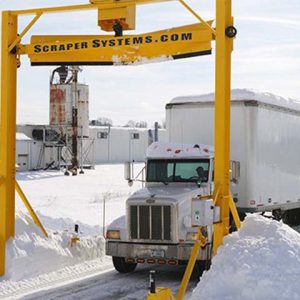
[[[169,0],[136,0],[95,4],[4,11],[2,13],[2,65],[1,65],[1,114],[0,114],[0,276],[5,273],[5,243],[15,234],[15,132],[16,132],[16,85],[18,51],[22,37],[44,13],[75,10],[106,9],[130,4],[147,4]],[[221,207],[221,222],[214,225],[214,254],[229,233],[229,208],[239,226],[238,215],[229,187],[230,156],[230,66],[233,40],[225,34],[233,24],[231,0],[216,0],[216,29],[205,22],[183,0],[179,2],[200,22],[211,30],[216,39],[215,78],[215,192],[216,205]],[[18,16],[35,15],[18,35]],[[196,243],[198,245],[198,243]],[[196,246],[195,245],[195,246]],[[194,251],[195,253],[197,251]],[[194,254],[193,256],[195,256]],[[191,257],[194,260],[194,257]],[[192,265],[192,263],[190,264]],[[189,270],[187,270],[189,272]],[[189,276],[186,276],[188,282]],[[186,283],[187,284],[187,283]],[[184,285],[183,287],[184,288]],[[185,287],[186,288],[186,287]],[[181,292],[177,299],[182,299]],[[181,296],[182,295],[182,296]]]

